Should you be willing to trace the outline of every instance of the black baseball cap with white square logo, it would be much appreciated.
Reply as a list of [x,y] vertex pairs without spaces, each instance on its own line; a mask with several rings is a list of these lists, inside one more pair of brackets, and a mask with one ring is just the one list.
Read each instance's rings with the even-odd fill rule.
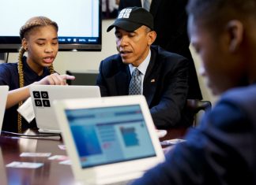
[[119,27],[125,31],[134,31],[142,25],[153,30],[154,23],[152,14],[141,7],[127,7],[120,11],[119,17],[107,28],[107,32],[111,31],[114,27]]

